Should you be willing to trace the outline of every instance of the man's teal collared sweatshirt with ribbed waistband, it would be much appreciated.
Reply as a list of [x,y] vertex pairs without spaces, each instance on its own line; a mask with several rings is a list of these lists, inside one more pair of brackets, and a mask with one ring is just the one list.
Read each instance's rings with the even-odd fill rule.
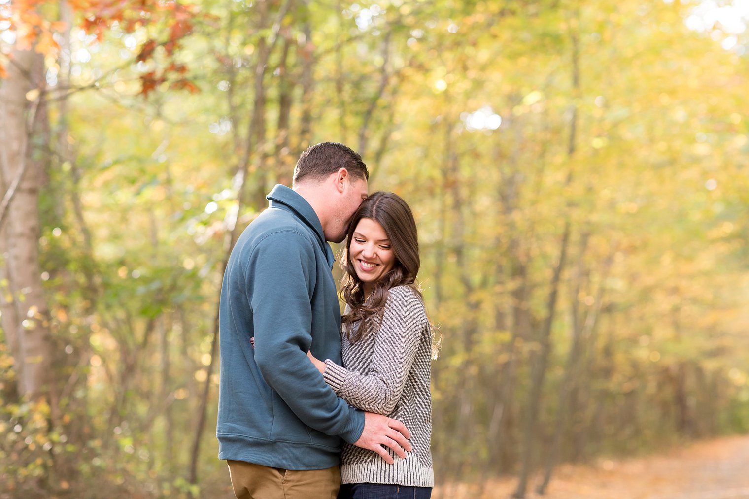
[[[231,251],[219,306],[219,459],[289,470],[339,463],[364,413],[307,358],[341,363],[333,250],[312,206],[276,185]],[[255,338],[252,348],[250,338]]]

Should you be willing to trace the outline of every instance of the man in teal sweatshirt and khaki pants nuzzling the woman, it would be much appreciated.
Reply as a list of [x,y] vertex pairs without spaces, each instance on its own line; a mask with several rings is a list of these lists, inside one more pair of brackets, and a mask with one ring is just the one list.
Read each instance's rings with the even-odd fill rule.
[[216,437],[237,498],[336,498],[341,439],[388,462],[383,446],[401,457],[411,450],[402,423],[349,407],[306,356],[341,362],[326,241],[343,241],[368,178],[345,145],[312,146],[297,162],[293,190],[276,185],[231,251],[219,307]]

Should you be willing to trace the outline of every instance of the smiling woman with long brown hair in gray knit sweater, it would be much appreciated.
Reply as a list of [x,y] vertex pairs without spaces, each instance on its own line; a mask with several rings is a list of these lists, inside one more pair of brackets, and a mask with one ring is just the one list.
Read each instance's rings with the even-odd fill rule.
[[403,199],[377,192],[362,203],[342,267],[344,366],[309,357],[350,405],[404,423],[413,451],[405,459],[391,453],[395,464],[389,465],[371,450],[345,444],[339,499],[429,498],[431,327],[416,285],[416,223]]

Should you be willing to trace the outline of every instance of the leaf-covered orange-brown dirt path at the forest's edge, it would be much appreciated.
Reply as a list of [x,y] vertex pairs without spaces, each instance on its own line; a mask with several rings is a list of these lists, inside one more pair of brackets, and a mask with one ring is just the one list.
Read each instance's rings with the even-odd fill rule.
[[[461,486],[446,489],[442,497],[506,499],[515,485],[515,480],[489,483],[483,495],[479,489]],[[535,486],[536,481],[529,483],[527,499],[749,499],[749,435],[700,442],[643,459],[564,465],[546,495],[533,493]]]

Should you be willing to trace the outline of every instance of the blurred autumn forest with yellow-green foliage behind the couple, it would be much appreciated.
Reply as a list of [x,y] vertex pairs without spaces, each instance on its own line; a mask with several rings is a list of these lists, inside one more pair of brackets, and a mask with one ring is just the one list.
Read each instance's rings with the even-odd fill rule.
[[222,271],[323,141],[417,216],[443,497],[747,432],[748,18],[0,0],[0,497],[231,497]]

